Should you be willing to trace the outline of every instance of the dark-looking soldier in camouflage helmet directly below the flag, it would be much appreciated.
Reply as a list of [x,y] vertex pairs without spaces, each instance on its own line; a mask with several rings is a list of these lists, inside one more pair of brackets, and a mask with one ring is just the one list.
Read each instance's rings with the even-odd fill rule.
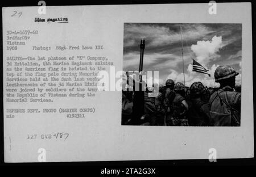
[[188,112],[188,124],[192,126],[209,126],[210,108],[203,95],[206,88],[201,82],[194,82],[189,87],[191,107]]

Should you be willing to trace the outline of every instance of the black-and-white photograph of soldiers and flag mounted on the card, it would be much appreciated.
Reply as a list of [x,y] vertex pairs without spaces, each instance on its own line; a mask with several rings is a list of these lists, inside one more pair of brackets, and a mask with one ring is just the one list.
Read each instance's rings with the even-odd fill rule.
[[123,70],[159,79],[122,91],[122,125],[241,125],[242,24],[125,23]]

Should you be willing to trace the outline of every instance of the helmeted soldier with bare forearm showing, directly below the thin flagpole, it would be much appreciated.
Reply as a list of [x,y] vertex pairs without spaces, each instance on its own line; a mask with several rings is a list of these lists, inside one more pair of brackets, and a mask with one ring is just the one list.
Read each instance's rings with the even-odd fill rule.
[[185,86],[181,82],[174,85],[175,96],[171,103],[171,122],[172,125],[187,126],[188,120],[186,113],[188,111],[188,103],[184,98]]

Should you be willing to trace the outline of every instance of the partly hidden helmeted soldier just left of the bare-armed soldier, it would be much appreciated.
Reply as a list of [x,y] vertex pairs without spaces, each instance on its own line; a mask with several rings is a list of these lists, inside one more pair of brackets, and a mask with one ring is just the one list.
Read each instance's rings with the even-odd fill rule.
[[172,125],[171,121],[171,104],[174,100],[174,81],[172,79],[167,79],[166,81],[166,92],[164,94],[164,124]]

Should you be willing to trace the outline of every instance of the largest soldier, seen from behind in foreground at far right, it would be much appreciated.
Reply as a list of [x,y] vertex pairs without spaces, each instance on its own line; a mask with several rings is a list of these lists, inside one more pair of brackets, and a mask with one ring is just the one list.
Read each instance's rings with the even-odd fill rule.
[[218,66],[215,82],[220,88],[210,96],[210,125],[240,126],[241,92],[234,91],[236,75],[232,66]]

